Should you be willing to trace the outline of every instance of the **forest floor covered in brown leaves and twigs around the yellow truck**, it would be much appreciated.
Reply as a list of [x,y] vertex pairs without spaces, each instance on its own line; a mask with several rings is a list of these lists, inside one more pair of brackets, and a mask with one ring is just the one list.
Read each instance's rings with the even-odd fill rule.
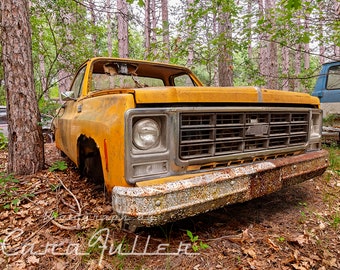
[[[340,269],[339,167],[259,199],[131,233],[119,229],[102,187],[80,179],[54,144],[45,152],[49,169],[1,174],[2,269]],[[2,171],[6,162],[2,151]]]

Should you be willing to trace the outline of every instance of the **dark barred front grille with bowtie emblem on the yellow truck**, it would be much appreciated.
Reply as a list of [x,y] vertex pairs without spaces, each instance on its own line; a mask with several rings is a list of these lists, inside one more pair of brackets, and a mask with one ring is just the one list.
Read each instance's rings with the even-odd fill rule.
[[[182,160],[305,146],[309,112],[181,113]],[[256,153],[255,153],[256,155]]]

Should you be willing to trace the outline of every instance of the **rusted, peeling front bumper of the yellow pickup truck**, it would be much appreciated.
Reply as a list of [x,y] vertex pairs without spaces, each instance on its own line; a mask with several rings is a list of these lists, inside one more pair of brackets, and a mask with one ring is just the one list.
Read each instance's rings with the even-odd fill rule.
[[125,223],[159,225],[272,193],[319,176],[327,167],[327,151],[308,152],[165,184],[114,187],[112,204]]

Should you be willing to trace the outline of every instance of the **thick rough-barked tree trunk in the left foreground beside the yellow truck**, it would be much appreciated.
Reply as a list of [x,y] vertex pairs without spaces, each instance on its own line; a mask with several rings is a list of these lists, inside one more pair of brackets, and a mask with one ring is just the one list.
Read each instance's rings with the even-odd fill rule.
[[33,81],[28,0],[1,1],[1,44],[8,113],[8,171],[44,166],[44,142]]

